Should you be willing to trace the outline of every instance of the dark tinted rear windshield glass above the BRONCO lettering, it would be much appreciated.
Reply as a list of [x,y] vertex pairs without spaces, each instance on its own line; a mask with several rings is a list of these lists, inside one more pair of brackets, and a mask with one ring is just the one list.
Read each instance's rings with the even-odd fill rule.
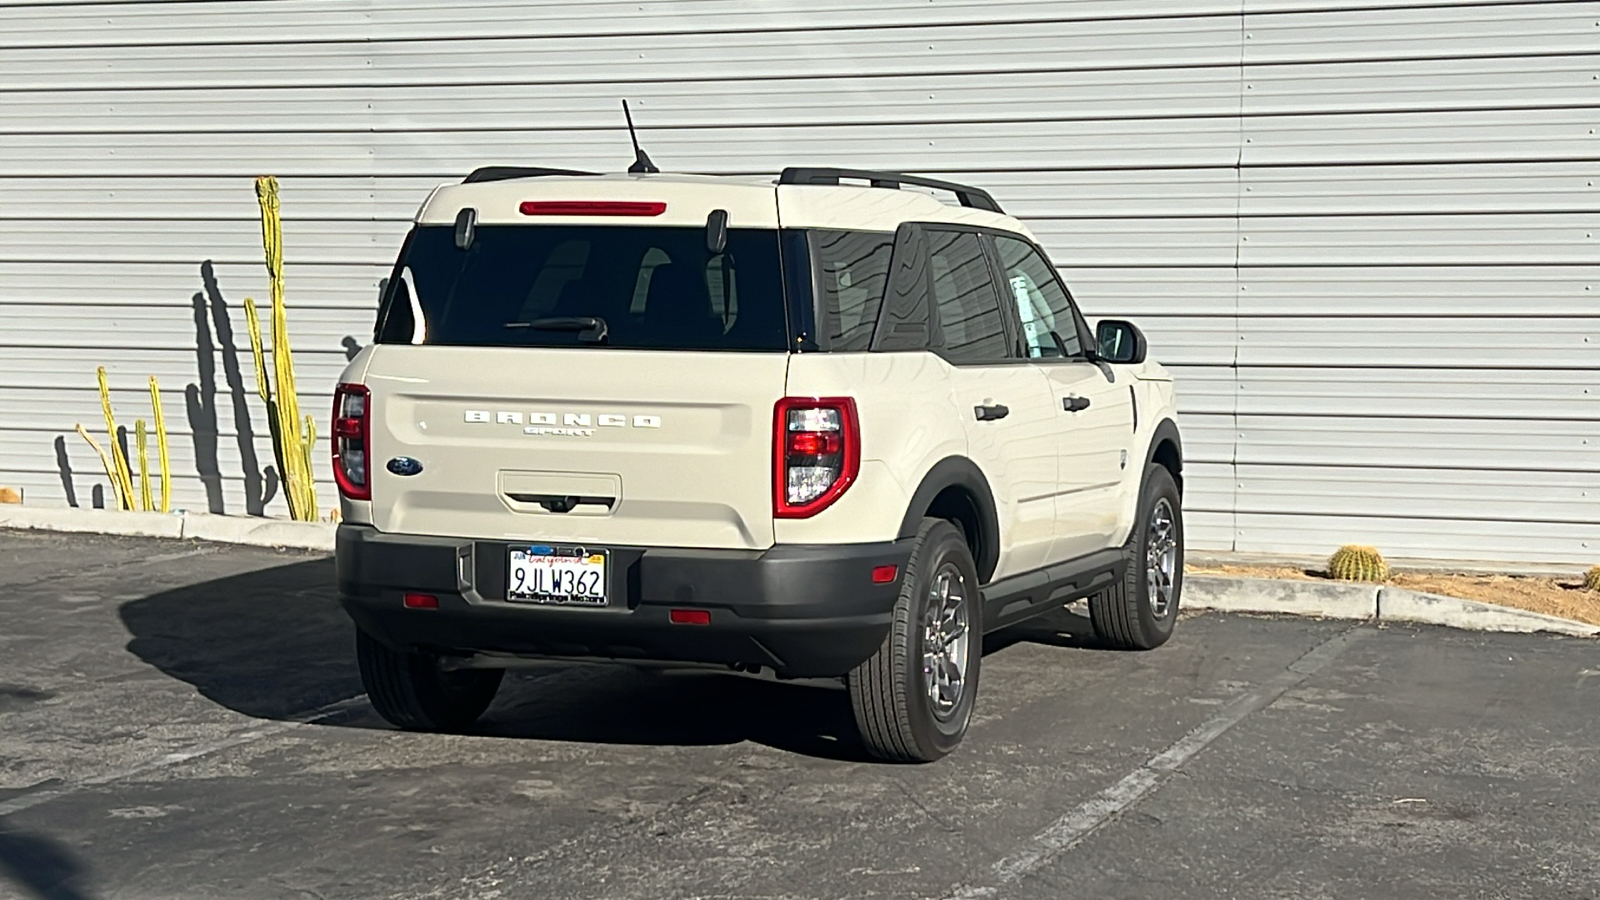
[[784,351],[778,232],[704,227],[478,226],[411,232],[379,312],[389,344]]

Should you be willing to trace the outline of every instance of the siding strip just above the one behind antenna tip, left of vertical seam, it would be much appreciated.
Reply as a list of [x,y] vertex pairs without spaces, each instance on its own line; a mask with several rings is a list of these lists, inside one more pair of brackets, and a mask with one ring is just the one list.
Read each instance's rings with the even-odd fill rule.
[[[1238,24],[1229,18],[1030,21],[962,26],[678,32],[344,43],[232,43],[16,48],[0,90],[483,85],[538,82],[722,80],[821,75],[949,75],[1038,69],[1133,69],[1134,54],[1165,66],[1230,66]],[[1024,62],[1026,61],[1026,62]],[[1070,61],[1062,66],[1061,61]],[[1149,66],[1149,62],[1146,64]],[[598,112],[598,110],[597,110]]]

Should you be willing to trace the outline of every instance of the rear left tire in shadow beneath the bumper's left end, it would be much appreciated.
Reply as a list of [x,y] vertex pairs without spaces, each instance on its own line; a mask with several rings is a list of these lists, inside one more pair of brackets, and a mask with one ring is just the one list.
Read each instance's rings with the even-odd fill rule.
[[478,721],[506,669],[443,669],[434,653],[394,650],[355,633],[362,684],[378,714],[413,732],[456,732]]

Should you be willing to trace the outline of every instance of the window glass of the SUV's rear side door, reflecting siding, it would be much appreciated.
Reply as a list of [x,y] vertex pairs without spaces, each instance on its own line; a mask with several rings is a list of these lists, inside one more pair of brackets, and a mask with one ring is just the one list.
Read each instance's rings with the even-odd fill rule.
[[989,261],[976,234],[928,232],[928,266],[933,269],[933,306],[939,319],[944,356],[952,362],[1006,359],[1005,322],[995,296]]

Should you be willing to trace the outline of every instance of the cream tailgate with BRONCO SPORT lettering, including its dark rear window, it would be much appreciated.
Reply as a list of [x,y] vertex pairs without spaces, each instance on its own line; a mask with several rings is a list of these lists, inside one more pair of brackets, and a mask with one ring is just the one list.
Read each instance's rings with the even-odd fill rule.
[[[766,548],[787,311],[776,229],[419,226],[373,397],[382,532]],[[408,456],[421,472],[398,476]]]

